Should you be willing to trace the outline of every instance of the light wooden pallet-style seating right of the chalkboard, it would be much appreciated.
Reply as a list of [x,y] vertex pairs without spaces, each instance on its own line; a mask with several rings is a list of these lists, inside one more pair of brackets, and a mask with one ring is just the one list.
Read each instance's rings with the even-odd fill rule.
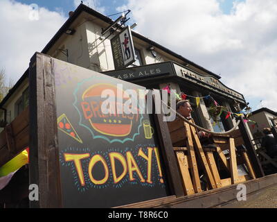
[[[215,136],[213,142],[217,148],[202,148],[197,131],[190,124],[177,119],[168,123],[168,128],[186,195],[202,192],[199,169],[204,171],[209,189],[221,188],[256,178],[247,152],[245,150],[236,151],[233,137],[229,135]],[[226,149],[229,151],[229,160],[223,152]],[[220,157],[226,170],[230,172],[230,178],[220,178],[215,162],[215,153]],[[238,175],[238,156],[247,166],[249,176]]]

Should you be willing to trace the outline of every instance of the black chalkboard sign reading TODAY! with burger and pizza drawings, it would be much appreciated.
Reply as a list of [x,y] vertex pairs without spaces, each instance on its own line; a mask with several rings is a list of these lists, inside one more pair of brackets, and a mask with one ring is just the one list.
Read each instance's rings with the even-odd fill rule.
[[[52,66],[63,207],[114,207],[168,196],[152,116],[119,112],[127,89],[145,88],[56,59]],[[102,112],[104,92],[114,95],[109,98],[116,112]]]

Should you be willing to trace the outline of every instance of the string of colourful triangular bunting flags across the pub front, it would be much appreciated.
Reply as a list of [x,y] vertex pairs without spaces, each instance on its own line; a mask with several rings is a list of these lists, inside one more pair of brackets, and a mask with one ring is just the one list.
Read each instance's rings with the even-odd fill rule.
[[[171,93],[170,91],[170,84],[167,85],[166,87],[163,87],[162,89],[164,90],[167,90],[168,91],[168,94]],[[237,117],[244,117],[246,119],[244,119],[244,123],[247,123],[247,122],[253,122],[254,124],[251,126],[252,128],[255,128],[255,126],[258,127],[258,124],[256,123],[256,121],[252,121],[250,119],[248,119],[249,115],[250,115],[250,112],[247,111],[240,111],[240,112],[230,112],[229,110],[227,110],[224,106],[222,105],[219,105],[219,103],[217,103],[217,101],[215,101],[215,99],[213,99],[213,96],[211,96],[210,94],[206,95],[206,96],[190,96],[188,94],[185,94],[184,92],[181,92],[180,94],[177,94],[175,93],[175,96],[178,100],[186,100],[188,99],[188,97],[191,97],[191,98],[194,98],[195,101],[196,101],[196,105],[197,107],[199,106],[199,103],[200,103],[200,99],[211,99],[215,105],[215,108],[220,108],[220,111],[217,112],[217,116],[219,117],[222,112],[226,112],[226,116],[225,116],[225,119],[228,119],[229,117],[231,117],[231,114],[237,116]]]

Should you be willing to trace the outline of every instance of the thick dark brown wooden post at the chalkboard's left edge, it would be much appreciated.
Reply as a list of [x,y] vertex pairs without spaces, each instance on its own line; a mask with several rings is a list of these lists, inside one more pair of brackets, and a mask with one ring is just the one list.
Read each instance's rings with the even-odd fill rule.
[[38,185],[39,200],[30,207],[62,207],[55,78],[51,58],[35,53],[29,66],[30,184]]

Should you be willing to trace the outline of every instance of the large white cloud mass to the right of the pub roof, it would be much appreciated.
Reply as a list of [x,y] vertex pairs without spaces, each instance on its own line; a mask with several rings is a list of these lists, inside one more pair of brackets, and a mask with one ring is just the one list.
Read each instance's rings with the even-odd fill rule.
[[129,0],[118,10],[126,8],[136,31],[277,111],[276,0],[234,1],[230,15],[220,10],[220,0]]

